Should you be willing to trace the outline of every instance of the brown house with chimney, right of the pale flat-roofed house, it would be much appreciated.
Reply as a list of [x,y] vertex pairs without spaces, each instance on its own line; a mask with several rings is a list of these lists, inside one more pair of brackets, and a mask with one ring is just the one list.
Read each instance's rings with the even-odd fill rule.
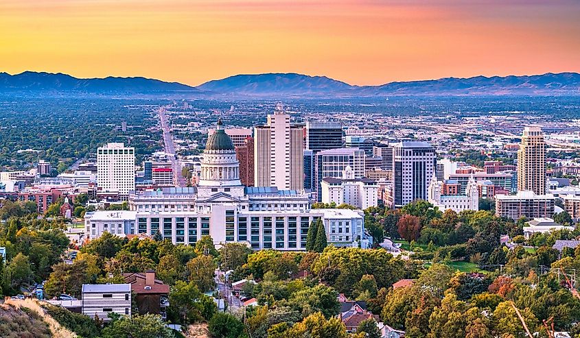
[[148,270],[144,274],[135,272],[123,274],[125,282],[131,285],[131,291],[135,293],[137,311],[140,315],[153,313],[167,317],[169,307],[169,285],[155,279],[155,271]]

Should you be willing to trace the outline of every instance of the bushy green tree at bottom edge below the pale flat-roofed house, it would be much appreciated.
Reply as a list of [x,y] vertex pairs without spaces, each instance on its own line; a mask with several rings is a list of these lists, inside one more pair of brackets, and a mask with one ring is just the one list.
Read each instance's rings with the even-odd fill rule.
[[102,330],[102,338],[174,338],[160,315],[122,316]]

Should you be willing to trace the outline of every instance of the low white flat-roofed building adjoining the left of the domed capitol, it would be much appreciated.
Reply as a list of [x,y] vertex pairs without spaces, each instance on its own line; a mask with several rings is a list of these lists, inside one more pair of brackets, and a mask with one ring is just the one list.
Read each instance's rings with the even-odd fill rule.
[[135,234],[135,211],[99,210],[84,215],[84,229],[86,237],[97,239],[104,232],[111,232],[119,237]]

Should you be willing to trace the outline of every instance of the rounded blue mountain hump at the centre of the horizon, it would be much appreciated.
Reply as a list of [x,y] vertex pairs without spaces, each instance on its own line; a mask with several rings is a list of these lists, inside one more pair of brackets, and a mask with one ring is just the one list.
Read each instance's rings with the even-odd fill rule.
[[319,95],[349,91],[355,86],[325,76],[297,73],[234,75],[198,86],[215,93],[243,95]]

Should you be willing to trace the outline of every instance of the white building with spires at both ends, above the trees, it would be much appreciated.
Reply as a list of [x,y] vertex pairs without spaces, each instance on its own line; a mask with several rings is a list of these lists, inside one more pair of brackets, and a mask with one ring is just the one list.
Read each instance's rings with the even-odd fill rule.
[[467,182],[465,195],[441,195],[441,182],[433,176],[429,184],[429,200],[440,210],[451,209],[456,213],[463,210],[479,210],[479,191],[477,182],[473,178]]

